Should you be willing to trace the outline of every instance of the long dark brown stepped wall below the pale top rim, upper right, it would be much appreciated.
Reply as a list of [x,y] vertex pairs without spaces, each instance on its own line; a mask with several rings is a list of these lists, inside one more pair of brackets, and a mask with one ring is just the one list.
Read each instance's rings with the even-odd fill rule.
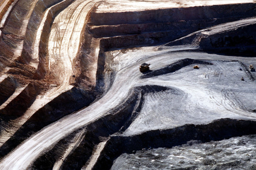
[[[133,12],[92,11],[84,37],[91,37],[92,40],[100,39],[100,44],[99,46],[87,44],[83,49],[90,51],[92,48],[88,49],[88,47],[92,46],[100,49],[96,89],[103,91],[106,84],[108,86],[111,84],[107,83],[109,78],[113,79],[114,70],[110,68],[113,59],[112,56],[106,56],[107,51],[170,42],[213,25],[253,17],[256,15],[255,9],[255,3],[242,3]],[[87,61],[85,60],[84,63]]]

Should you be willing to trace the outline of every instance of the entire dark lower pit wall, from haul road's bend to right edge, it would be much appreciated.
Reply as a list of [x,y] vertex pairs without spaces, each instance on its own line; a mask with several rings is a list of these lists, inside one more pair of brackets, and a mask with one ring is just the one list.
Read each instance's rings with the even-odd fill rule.
[[[91,167],[93,170],[109,170],[113,161],[122,153],[134,153],[137,150],[179,146],[190,140],[201,142],[218,141],[235,136],[255,134],[256,121],[219,119],[209,124],[187,124],[170,129],[158,129],[135,135],[123,135],[132,121],[137,118],[149,93],[172,90],[161,86],[142,86],[130,91],[126,101],[110,110],[105,116],[81,127],[64,137],[56,145],[45,151],[29,169],[53,169],[56,162],[62,162],[60,169],[80,170],[89,166],[91,156],[101,142],[103,150]],[[109,123],[111,121],[111,123]],[[80,136],[78,138],[78,136]],[[77,142],[76,142],[77,141]],[[74,147],[72,143],[75,143]],[[68,156],[64,150],[71,148]]]

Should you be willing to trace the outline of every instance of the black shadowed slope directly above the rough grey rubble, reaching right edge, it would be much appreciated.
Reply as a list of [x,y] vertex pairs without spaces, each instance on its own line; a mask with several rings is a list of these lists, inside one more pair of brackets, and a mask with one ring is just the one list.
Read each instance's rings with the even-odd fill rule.
[[183,125],[171,129],[158,129],[136,135],[113,135],[93,167],[93,170],[109,170],[122,153],[132,153],[145,148],[171,148],[191,140],[219,141],[235,136],[256,134],[256,121],[219,119],[206,125]]

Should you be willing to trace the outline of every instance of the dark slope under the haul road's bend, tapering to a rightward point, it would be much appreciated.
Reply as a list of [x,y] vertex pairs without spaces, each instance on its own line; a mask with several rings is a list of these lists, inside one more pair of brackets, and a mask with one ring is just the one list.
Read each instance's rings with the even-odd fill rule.
[[51,170],[57,160],[62,159],[63,154],[70,145],[75,134],[85,130],[84,137],[80,139],[78,146],[74,147],[71,153],[64,159],[60,169],[81,170],[88,163],[95,147],[106,140],[109,135],[123,132],[139,114],[144,102],[144,95],[170,90],[161,86],[135,87],[129,92],[129,97],[122,101],[119,106],[111,109],[106,116],[79,128],[75,132],[61,139],[52,149],[39,156],[30,169]]

